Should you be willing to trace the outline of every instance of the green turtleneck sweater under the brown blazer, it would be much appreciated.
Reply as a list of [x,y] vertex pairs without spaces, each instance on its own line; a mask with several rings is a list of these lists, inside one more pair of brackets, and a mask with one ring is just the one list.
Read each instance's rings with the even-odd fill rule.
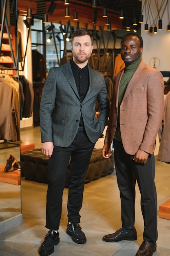
[[124,73],[121,77],[120,86],[119,86],[117,127],[116,127],[116,132],[115,132],[115,137],[114,137],[114,139],[117,139],[119,141],[121,141],[120,120],[119,120],[119,118],[120,118],[120,115],[119,115],[120,104],[121,104],[121,101],[124,97],[124,94],[125,94],[126,88],[128,86],[128,83],[129,83],[130,79],[132,78],[135,70],[137,69],[137,67],[141,63],[141,61],[142,61],[142,56],[137,61],[134,61],[132,64],[125,65],[125,70],[124,70]]

